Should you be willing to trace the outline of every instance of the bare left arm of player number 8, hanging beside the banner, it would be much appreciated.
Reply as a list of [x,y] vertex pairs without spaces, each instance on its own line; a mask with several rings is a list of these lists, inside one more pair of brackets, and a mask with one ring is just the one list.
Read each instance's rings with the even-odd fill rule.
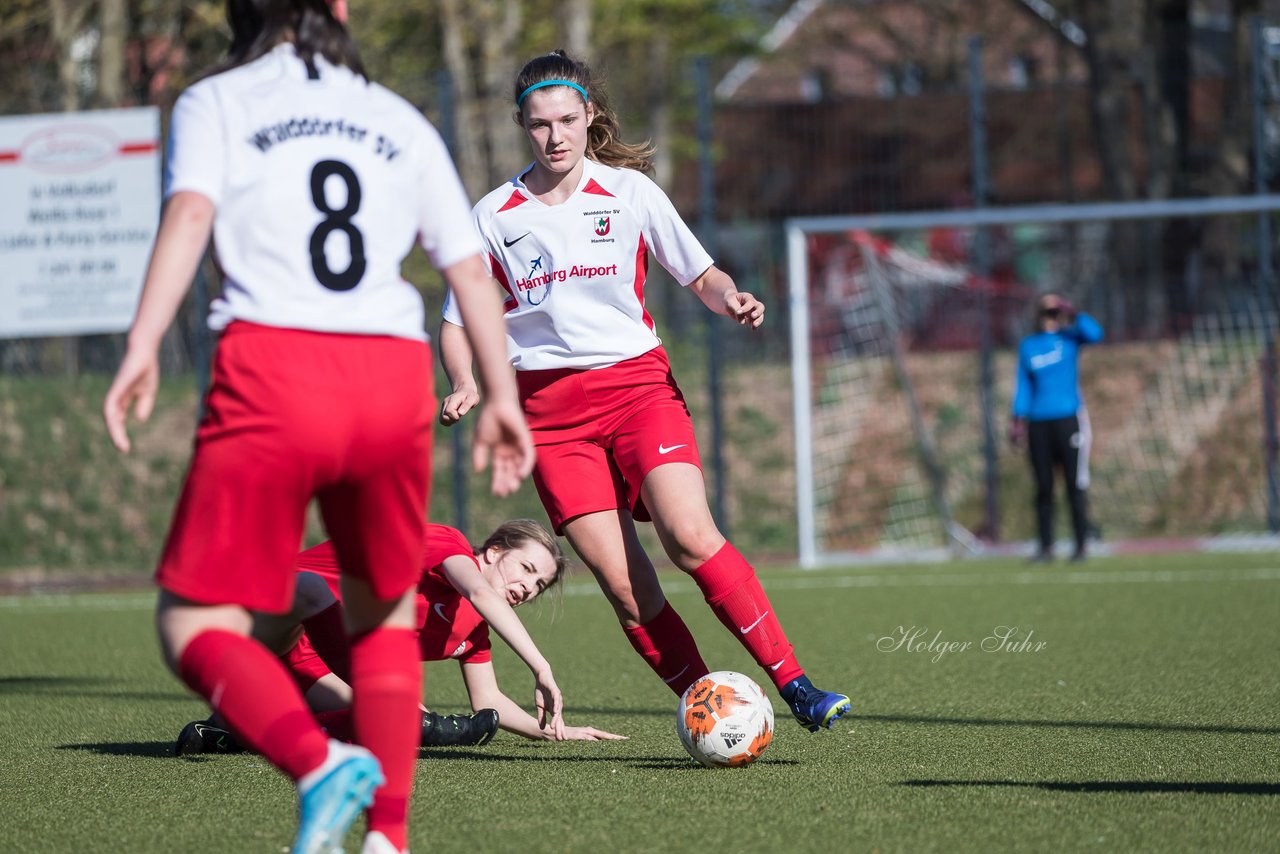
[[142,298],[129,326],[128,350],[102,401],[106,431],[123,453],[131,447],[125,430],[129,410],[140,421],[151,417],[160,388],[160,339],[191,287],[212,228],[214,202],[201,193],[177,192],[165,205]]

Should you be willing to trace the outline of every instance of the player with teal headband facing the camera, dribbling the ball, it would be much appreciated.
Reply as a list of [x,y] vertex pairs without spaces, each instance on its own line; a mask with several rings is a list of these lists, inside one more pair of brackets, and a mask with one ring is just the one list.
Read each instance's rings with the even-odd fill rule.
[[[534,163],[474,216],[506,291],[508,357],[538,447],[534,483],[557,533],[595,574],[636,652],[677,695],[708,672],[666,600],[634,520],[653,521],[671,561],[817,731],[849,711],[813,686],[751,565],[707,506],[684,396],[644,306],[649,252],[712,311],[751,329],[764,305],[713,262],[648,177],[652,150],[618,138],[603,90],[557,51],[515,86]],[[465,318],[445,303],[440,350],[452,393],[440,419],[479,401]]]

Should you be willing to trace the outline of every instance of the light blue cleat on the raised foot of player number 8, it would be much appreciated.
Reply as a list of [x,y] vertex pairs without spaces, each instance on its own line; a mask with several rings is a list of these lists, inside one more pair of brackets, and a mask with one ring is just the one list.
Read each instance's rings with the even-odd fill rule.
[[[315,780],[312,775],[320,773]],[[369,750],[329,740],[329,758],[298,784],[298,835],[292,854],[340,854],[356,816],[383,785],[383,769]]]

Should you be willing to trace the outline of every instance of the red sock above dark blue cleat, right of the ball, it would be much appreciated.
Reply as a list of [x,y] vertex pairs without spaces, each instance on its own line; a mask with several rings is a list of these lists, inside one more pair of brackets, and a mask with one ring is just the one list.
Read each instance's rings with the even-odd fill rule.
[[721,551],[691,575],[707,604],[746,647],[776,688],[781,689],[804,673],[769,597],[755,577],[755,570],[731,543],[724,543]]

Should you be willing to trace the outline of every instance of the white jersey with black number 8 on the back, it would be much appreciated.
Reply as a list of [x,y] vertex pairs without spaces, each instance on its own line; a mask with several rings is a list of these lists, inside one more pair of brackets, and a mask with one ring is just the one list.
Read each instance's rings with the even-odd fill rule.
[[425,339],[422,298],[401,278],[421,242],[436,268],[481,252],[435,128],[398,95],[292,44],[182,93],[166,195],[214,202],[232,320]]

